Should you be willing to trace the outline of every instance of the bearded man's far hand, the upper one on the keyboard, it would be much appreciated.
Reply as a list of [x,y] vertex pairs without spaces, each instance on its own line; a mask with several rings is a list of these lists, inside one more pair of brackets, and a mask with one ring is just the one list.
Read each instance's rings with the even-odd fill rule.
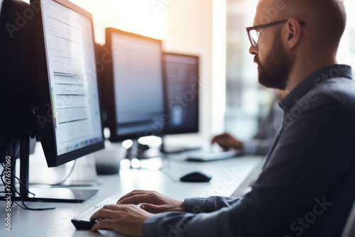
[[184,202],[154,191],[134,190],[121,197],[117,204],[141,204],[141,209],[151,213],[184,211]]

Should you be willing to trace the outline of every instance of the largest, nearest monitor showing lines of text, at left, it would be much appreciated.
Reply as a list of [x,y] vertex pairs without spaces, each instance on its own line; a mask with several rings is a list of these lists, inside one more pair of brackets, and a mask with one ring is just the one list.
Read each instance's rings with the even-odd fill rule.
[[57,166],[104,147],[94,33],[91,14],[70,1],[40,6],[38,121],[48,166]]

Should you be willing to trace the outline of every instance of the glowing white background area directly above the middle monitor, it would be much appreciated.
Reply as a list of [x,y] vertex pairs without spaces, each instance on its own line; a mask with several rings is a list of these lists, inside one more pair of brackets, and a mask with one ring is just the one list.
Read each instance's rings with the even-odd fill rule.
[[166,6],[160,0],[70,0],[92,13],[97,43],[105,43],[105,28],[119,28],[152,38],[164,39],[167,28]]

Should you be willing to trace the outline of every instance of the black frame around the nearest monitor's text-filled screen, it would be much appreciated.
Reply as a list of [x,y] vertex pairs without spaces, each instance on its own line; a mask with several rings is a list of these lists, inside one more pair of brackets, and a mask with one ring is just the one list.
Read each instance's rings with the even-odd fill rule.
[[[94,27],[92,23],[92,14],[81,9],[79,6],[73,4],[67,0],[51,0],[55,1],[62,6],[65,6],[77,13],[82,14],[83,16],[89,18],[89,21],[92,25],[92,43],[95,46],[94,42]],[[36,61],[37,61],[37,70],[38,70],[38,87],[39,87],[39,97],[40,97],[40,114],[36,115],[36,120],[38,124],[38,135],[40,137],[40,142],[43,147],[43,152],[45,153],[45,159],[47,160],[48,167],[56,167],[66,162],[70,162],[77,158],[80,158],[89,153],[93,153],[97,150],[104,148],[104,133],[102,126],[102,104],[101,104],[101,90],[99,84],[99,74],[97,72],[97,88],[99,95],[99,109],[100,109],[100,119],[101,119],[101,131],[102,131],[102,140],[87,145],[84,148],[79,148],[77,150],[72,150],[68,153],[58,155],[57,153],[57,143],[55,137],[55,127],[53,123],[53,106],[50,95],[50,75],[48,70],[48,59],[45,48],[45,37],[43,29],[43,15],[42,15],[42,2],[40,0],[31,0],[31,6],[33,4],[39,3],[40,9],[35,13],[33,18],[33,33],[35,35],[35,50],[36,50]],[[97,52],[96,47],[94,47],[94,59],[95,59],[95,68],[97,64]],[[45,66],[43,66],[45,65]]]

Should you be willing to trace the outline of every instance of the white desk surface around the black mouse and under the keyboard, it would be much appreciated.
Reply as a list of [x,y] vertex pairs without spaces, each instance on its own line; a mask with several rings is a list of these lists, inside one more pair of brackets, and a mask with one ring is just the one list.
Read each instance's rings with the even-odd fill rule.
[[[119,175],[99,176],[100,184],[87,189],[99,189],[97,195],[81,204],[28,202],[32,208],[55,206],[50,211],[27,211],[13,205],[11,208],[11,233],[6,231],[6,203],[0,202],[0,236],[121,236],[113,231],[76,231],[71,219],[112,194],[122,196],[133,189],[155,190],[175,199],[186,197],[232,196],[244,189],[258,176],[263,164],[260,157],[241,157],[214,162],[186,162],[182,160],[153,159],[142,163],[139,170],[121,167]],[[163,167],[172,177],[158,170]],[[212,175],[207,183],[182,183],[178,178],[187,172],[204,171]],[[177,180],[174,180],[177,179]],[[3,187],[0,187],[3,188]],[[82,187],[76,189],[84,189]],[[1,223],[2,222],[2,223]]]

